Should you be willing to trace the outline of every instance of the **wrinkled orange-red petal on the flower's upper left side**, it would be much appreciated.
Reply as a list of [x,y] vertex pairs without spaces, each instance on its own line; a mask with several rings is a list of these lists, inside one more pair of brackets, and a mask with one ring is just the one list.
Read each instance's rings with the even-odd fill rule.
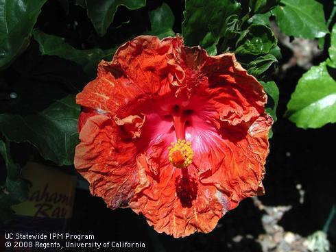
[[[173,40],[181,38],[159,40],[155,36],[139,36],[126,42],[112,62],[100,62],[97,78],[77,95],[77,104],[107,114],[130,106],[133,114],[139,114],[135,110],[141,100],[167,89],[166,58],[172,52]],[[128,116],[129,111],[119,115]]]

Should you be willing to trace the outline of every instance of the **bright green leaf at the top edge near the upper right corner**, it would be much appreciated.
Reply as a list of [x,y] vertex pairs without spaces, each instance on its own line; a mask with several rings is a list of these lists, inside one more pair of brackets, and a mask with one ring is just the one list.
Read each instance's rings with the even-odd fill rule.
[[288,36],[322,38],[328,33],[323,5],[315,0],[281,0],[272,14]]

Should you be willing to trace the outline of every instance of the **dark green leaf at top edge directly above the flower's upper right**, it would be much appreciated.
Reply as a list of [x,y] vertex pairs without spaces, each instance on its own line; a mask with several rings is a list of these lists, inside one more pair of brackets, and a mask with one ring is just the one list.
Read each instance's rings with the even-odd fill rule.
[[184,43],[188,46],[200,45],[215,54],[219,40],[225,38],[228,29],[239,24],[240,3],[231,0],[186,0],[185,4],[182,23]]

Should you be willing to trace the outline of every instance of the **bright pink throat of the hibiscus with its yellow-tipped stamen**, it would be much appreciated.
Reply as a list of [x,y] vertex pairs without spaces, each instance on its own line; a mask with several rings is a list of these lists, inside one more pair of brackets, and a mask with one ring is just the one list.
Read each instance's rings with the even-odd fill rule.
[[176,168],[190,166],[197,153],[207,151],[205,140],[213,137],[213,131],[206,101],[161,97],[146,105],[143,112],[147,114],[143,133],[151,140],[149,145],[162,141],[166,158]]

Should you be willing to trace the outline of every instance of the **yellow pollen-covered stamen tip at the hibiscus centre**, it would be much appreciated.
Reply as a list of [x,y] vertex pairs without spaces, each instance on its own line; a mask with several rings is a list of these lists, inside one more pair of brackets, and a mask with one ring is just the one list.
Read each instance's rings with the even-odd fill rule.
[[179,139],[178,142],[171,143],[171,147],[168,148],[168,160],[178,168],[188,167],[193,162],[193,149],[191,148],[191,142]]

